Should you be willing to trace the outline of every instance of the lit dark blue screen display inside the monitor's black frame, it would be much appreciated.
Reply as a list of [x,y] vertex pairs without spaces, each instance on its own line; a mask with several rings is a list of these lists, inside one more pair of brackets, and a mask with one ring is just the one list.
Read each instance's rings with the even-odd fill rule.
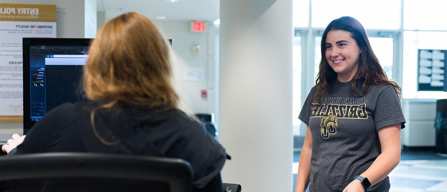
[[30,46],[30,118],[39,121],[64,102],[82,99],[87,46]]

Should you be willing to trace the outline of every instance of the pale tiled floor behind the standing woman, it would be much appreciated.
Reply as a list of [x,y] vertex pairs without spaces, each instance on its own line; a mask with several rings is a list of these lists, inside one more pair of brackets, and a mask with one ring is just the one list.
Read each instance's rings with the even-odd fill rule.
[[[294,156],[298,161],[299,155]],[[292,169],[294,189],[298,164],[294,162]],[[447,192],[447,157],[427,151],[403,151],[401,162],[389,177],[390,192]]]

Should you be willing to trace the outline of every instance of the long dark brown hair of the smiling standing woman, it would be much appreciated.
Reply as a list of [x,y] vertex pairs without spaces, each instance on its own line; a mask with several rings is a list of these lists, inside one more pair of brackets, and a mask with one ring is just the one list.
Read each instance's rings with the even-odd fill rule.
[[[326,51],[326,36],[331,30],[344,30],[351,33],[351,37],[356,41],[357,45],[362,50],[358,59],[358,69],[351,80],[351,87],[355,94],[362,97],[368,94],[372,86],[375,85],[390,85],[394,88],[396,93],[401,97],[401,87],[396,82],[388,79],[384,69],[379,63],[371,49],[367,34],[363,25],[353,17],[343,16],[335,19],[326,27],[323,36],[321,37],[321,61],[319,72],[316,76],[316,93],[313,95],[312,103],[316,98],[320,98],[329,89],[329,83],[336,81],[337,73],[329,66],[325,57]],[[359,90],[358,88],[361,88]]]

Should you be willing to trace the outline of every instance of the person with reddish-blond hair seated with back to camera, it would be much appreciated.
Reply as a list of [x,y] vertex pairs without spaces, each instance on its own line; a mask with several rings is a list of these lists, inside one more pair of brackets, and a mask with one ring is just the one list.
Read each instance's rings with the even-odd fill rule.
[[98,152],[179,158],[194,170],[193,191],[223,191],[225,149],[178,109],[169,51],[145,16],[129,12],[110,20],[93,40],[84,66],[88,101],[58,106],[26,137],[13,135],[2,150],[8,155]]

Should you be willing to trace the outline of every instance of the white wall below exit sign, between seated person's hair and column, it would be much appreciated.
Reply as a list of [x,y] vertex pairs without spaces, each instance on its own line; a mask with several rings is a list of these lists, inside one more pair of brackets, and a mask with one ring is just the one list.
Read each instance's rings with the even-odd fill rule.
[[[216,62],[215,28],[207,25],[205,33],[192,33],[190,21],[157,21],[168,39],[172,39],[173,69],[178,82],[177,88],[193,113],[216,113]],[[200,45],[200,54],[192,54],[193,45]],[[204,69],[203,82],[184,82],[182,70],[190,67]],[[201,90],[207,90],[208,97],[201,98]]]

